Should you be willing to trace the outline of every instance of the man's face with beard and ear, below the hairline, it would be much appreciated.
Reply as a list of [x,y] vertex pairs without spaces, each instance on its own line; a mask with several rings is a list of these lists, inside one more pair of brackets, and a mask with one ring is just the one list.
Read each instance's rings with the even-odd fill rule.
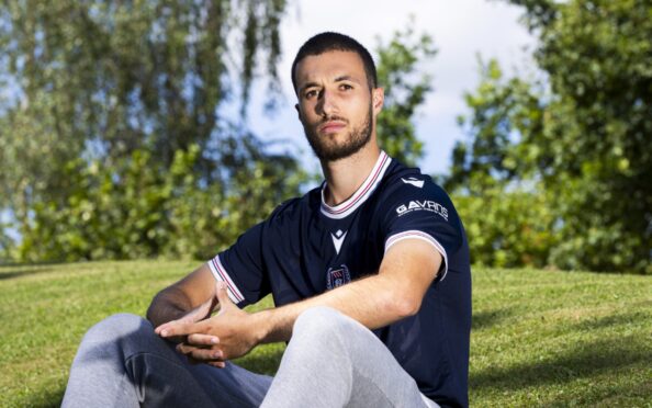
[[[339,160],[369,143],[382,90],[370,91],[358,54],[333,50],[308,56],[299,63],[295,76],[299,117],[319,159]],[[372,97],[379,91],[376,111]]]

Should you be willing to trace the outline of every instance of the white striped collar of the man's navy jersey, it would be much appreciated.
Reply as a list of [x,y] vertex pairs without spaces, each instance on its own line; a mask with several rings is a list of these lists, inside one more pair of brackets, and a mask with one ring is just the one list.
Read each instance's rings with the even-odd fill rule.
[[373,193],[380,181],[385,174],[385,170],[390,167],[392,159],[386,152],[381,150],[371,173],[367,175],[362,185],[356,190],[356,192],[345,202],[339,203],[336,206],[329,206],[324,200],[324,191],[326,190],[326,182],[322,184],[322,214],[328,218],[341,219],[352,214],[362,203],[369,199]]

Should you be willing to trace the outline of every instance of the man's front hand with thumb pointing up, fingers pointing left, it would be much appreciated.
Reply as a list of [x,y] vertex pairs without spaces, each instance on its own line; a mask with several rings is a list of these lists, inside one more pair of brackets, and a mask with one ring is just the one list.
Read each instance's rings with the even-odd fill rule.
[[[223,282],[217,283],[217,315],[202,320],[179,319],[156,328],[156,333],[168,339],[186,337],[177,350],[191,361],[224,367],[225,361],[247,354],[258,344],[260,325],[256,315],[240,310],[226,293]],[[203,305],[202,305],[203,306]]]

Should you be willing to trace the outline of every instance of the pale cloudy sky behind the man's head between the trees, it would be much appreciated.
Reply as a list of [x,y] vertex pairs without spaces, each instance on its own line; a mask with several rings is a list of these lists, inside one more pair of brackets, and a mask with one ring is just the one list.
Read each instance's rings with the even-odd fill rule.
[[[496,58],[507,72],[531,65],[529,55],[536,43],[518,22],[521,14],[520,8],[495,0],[290,1],[281,27],[283,55],[279,66],[284,102],[272,116],[261,109],[250,110],[249,125],[263,140],[288,139],[300,149],[304,166],[316,169],[318,162],[293,107],[289,72],[296,50],[324,31],[350,35],[372,50],[378,36],[386,42],[414,15],[415,33],[428,33],[438,49],[434,58],[420,65],[420,70],[432,77],[434,91],[416,116],[417,137],[425,143],[419,167],[429,174],[447,173],[456,140],[465,137],[457,116],[468,112],[463,93],[477,84],[479,55],[484,60]],[[262,95],[254,91],[252,105],[261,106],[261,100]]]

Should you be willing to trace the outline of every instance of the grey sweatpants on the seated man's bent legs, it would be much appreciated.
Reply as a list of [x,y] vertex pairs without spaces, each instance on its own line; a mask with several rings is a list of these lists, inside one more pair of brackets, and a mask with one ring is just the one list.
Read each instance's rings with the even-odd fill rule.
[[151,325],[114,315],[85,336],[63,407],[437,407],[384,344],[327,308],[303,313],[276,377],[189,364]]

